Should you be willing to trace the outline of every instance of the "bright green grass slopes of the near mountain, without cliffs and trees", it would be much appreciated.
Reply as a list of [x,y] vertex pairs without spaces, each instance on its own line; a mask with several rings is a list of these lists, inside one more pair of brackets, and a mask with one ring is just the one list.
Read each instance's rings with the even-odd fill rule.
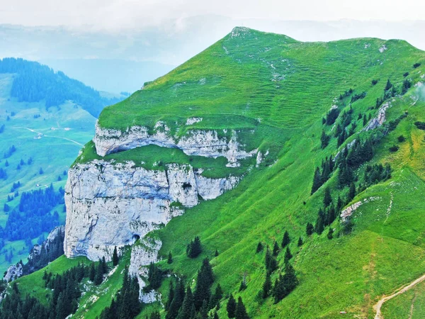
[[[187,209],[151,234],[163,242],[160,255],[164,260],[159,267],[188,283],[196,278],[203,258],[210,258],[214,285],[220,283],[225,291],[220,318],[227,318],[229,293],[242,297],[251,318],[339,318],[341,311],[346,311],[346,318],[373,318],[373,305],[380,296],[425,273],[425,132],[417,123],[425,121],[424,72],[425,52],[402,40],[300,43],[285,35],[235,28],[174,71],[105,108],[99,125],[153,129],[157,121],[164,121],[176,135],[191,128],[234,129],[246,150],[268,151],[259,167],[246,165],[237,188]],[[383,125],[365,130],[385,103]],[[327,125],[331,108],[339,114]],[[347,125],[344,114],[351,114]],[[203,121],[183,125],[193,116]],[[339,143],[335,135],[343,124],[349,136]],[[362,159],[353,169],[353,194],[348,185],[340,186],[338,166],[311,194],[316,167],[336,157],[346,145],[352,147],[355,139],[373,140],[373,157],[367,162]],[[152,145],[107,157],[146,165],[155,159],[198,161],[178,150],[157,150]],[[97,155],[89,144],[84,158],[78,160],[94,158]],[[220,159],[208,159],[214,161]],[[366,166],[374,164],[390,164],[391,177],[368,183]],[[338,215],[353,203],[363,204],[349,221],[336,218],[323,232],[307,236],[306,225],[317,225],[327,188],[334,204],[338,197],[344,202]],[[331,239],[329,229],[334,230]],[[291,239],[290,264],[299,284],[274,303],[272,297],[259,296],[266,278],[265,249],[256,253],[256,247],[262,242],[272,248],[273,242],[282,241],[285,230]],[[190,259],[186,245],[195,236],[200,237],[203,252]],[[166,262],[169,252],[174,259],[171,264]],[[273,283],[284,272],[284,254],[284,250],[278,254]],[[24,285],[24,278],[19,285]],[[246,289],[239,291],[243,279]],[[169,295],[169,280],[164,279],[159,289],[162,303]],[[403,313],[409,313],[412,298],[421,296],[421,290],[423,284],[410,295],[386,303],[382,308],[385,318],[405,318]],[[422,299],[415,299],[419,306],[413,313],[422,311]],[[165,318],[159,303],[145,306],[139,318],[154,308]],[[86,318],[96,315],[86,313]]]

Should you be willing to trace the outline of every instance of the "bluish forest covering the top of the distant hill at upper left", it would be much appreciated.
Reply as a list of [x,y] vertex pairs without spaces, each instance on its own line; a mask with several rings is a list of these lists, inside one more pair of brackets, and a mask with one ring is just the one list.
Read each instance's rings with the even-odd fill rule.
[[44,100],[46,108],[71,100],[98,117],[104,106],[120,101],[103,98],[95,89],[38,62],[4,58],[0,60],[0,73],[18,74],[13,80],[11,96],[25,102]]

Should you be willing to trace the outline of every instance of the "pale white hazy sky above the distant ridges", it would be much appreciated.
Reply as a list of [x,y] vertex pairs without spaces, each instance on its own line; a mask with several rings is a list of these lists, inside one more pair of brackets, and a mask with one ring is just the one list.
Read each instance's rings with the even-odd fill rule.
[[1,0],[0,23],[118,30],[203,14],[329,21],[424,20],[423,0]]

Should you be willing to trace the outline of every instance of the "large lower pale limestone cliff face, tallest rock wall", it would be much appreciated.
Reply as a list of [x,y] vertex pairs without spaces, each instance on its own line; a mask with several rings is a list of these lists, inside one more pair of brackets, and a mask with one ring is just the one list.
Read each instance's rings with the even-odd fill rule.
[[65,187],[65,254],[109,259],[115,246],[131,245],[199,198],[216,198],[239,181],[208,179],[201,172],[188,164],[160,171],[103,160],[72,167]]

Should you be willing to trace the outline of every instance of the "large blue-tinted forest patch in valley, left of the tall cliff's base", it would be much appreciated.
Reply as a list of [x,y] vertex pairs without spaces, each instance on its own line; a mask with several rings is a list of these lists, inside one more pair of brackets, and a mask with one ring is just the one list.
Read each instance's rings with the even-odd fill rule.
[[5,228],[0,227],[0,237],[7,240],[25,240],[38,237],[59,225],[59,214],[52,208],[64,203],[64,190],[47,189],[23,192],[18,208],[8,214]]

